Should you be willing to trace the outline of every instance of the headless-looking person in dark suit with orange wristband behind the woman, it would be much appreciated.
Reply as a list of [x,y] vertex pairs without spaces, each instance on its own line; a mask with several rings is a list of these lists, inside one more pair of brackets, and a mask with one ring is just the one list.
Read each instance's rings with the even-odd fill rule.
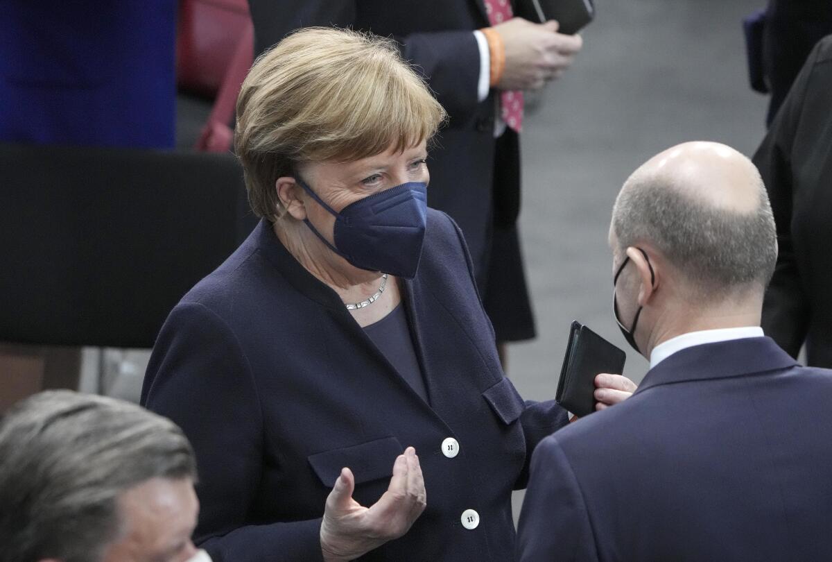
[[428,157],[428,204],[462,228],[505,361],[503,343],[535,336],[518,231],[522,91],[561,77],[582,38],[558,33],[557,22],[532,23],[508,0],[249,3],[255,52],[297,27],[353,27],[394,37],[427,80],[448,112]]

